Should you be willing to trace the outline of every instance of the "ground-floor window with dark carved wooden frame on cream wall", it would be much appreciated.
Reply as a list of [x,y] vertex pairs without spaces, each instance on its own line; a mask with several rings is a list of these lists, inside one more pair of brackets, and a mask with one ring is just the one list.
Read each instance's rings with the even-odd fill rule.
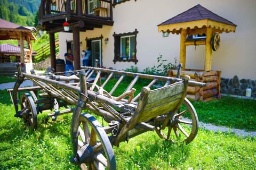
[[114,60],[113,62],[135,62],[137,64],[137,29],[134,32],[116,34],[114,32]]

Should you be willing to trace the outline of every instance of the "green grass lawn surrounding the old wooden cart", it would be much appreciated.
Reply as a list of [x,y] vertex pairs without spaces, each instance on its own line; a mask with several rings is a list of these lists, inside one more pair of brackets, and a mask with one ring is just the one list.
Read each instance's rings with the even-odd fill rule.
[[[207,103],[193,102],[199,121],[256,131],[255,100],[223,97]],[[71,114],[44,123],[38,114],[38,129],[29,131],[6,90],[0,90],[0,169],[78,169],[69,162]],[[101,119],[98,119],[101,122]],[[155,132],[146,132],[114,147],[117,169],[255,169],[254,137],[237,137],[199,129],[189,143],[166,142]]]

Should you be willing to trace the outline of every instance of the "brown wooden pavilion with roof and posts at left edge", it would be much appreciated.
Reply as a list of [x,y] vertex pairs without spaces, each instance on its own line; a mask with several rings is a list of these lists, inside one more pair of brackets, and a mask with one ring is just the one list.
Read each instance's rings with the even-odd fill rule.
[[28,42],[30,61],[33,53],[31,40],[36,40],[31,29],[18,24],[0,19],[0,40],[17,39],[20,40],[20,62],[25,63],[24,40]]

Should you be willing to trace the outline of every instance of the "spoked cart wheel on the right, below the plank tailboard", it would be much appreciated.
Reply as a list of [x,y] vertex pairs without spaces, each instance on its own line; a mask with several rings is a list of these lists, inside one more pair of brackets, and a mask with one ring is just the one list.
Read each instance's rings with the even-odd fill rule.
[[180,108],[180,111],[171,116],[166,129],[164,131],[162,127],[157,127],[156,132],[159,137],[170,140],[171,134],[174,133],[176,140],[183,140],[187,144],[196,137],[198,118],[194,106],[187,98],[184,99],[183,107]]

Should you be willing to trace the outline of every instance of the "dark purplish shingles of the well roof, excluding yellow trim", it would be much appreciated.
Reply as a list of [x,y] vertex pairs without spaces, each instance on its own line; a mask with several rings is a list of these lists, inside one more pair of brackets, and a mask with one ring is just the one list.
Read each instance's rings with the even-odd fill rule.
[[[205,19],[225,23],[228,25],[237,26],[233,22],[230,22],[230,21],[226,20],[225,18],[222,18],[221,16],[211,12],[210,10],[207,10],[205,7],[203,7],[199,4],[190,8],[189,10],[187,10],[185,12],[180,13],[179,15],[174,16],[173,18],[171,18],[165,22],[162,22],[159,25],[168,25],[168,24],[173,24],[173,23],[181,23],[181,22],[189,22],[189,21],[197,21],[197,20],[205,20]],[[157,25],[157,26],[159,26],[159,25]]]

